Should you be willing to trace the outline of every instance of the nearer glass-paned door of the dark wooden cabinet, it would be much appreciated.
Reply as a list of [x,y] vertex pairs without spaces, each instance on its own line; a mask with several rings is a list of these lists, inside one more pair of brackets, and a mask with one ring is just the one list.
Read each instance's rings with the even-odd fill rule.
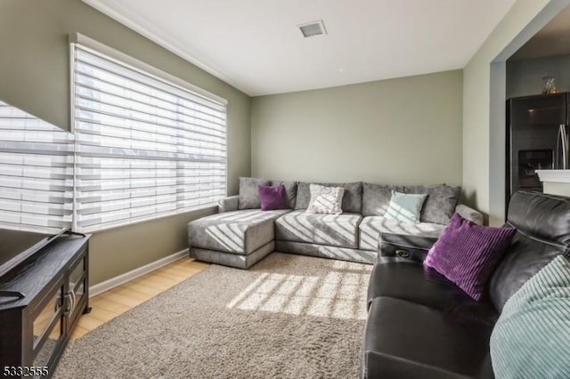
[[29,366],[52,366],[53,353],[65,338],[63,311],[65,280],[61,278],[31,314],[31,361]]

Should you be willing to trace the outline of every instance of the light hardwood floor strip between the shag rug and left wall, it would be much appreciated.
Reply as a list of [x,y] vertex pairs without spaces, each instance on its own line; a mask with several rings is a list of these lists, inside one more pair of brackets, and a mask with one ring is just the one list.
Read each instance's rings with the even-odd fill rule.
[[77,322],[77,327],[70,335],[71,341],[207,267],[208,263],[197,262],[190,257],[184,257],[142,277],[135,278],[124,285],[92,297],[89,299],[89,306],[93,310],[91,313],[81,316]]

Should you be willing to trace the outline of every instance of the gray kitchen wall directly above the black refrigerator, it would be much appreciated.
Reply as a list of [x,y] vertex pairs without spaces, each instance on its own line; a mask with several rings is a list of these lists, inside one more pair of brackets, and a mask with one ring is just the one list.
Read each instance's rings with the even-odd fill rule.
[[558,92],[570,91],[570,55],[507,60],[507,98],[542,93],[542,77],[554,77]]

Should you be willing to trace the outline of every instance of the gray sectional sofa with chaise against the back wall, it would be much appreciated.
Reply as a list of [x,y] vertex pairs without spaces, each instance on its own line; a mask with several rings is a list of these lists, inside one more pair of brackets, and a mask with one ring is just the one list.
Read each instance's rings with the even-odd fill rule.
[[[283,184],[288,209],[262,211],[257,186]],[[351,262],[375,262],[380,233],[438,237],[452,214],[481,224],[483,216],[458,205],[460,187],[392,186],[362,181],[318,183],[342,186],[342,214],[307,214],[309,182],[240,178],[240,194],[220,200],[218,214],[188,224],[190,256],[248,269],[273,251]],[[392,190],[428,194],[420,222],[384,217]]]

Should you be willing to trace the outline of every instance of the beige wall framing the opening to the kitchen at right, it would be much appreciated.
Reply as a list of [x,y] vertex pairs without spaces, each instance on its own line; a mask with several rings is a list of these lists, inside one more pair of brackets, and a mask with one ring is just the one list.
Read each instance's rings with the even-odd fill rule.
[[505,208],[505,61],[567,4],[518,0],[463,70],[463,189],[492,225]]

